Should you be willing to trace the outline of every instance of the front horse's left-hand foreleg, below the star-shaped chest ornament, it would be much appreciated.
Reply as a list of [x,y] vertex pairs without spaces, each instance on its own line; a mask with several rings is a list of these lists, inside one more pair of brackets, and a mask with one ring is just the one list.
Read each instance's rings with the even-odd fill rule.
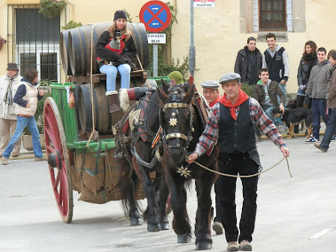
[[186,212],[186,192],[184,188],[184,178],[166,173],[166,180],[170,193],[170,205],[174,212],[173,229],[177,234],[178,243],[191,242],[191,224]]

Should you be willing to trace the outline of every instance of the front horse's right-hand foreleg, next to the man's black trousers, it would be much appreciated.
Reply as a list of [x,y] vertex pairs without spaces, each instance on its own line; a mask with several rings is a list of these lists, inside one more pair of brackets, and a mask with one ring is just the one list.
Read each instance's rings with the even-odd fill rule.
[[196,250],[212,248],[211,239],[211,188],[215,181],[213,173],[203,173],[196,183],[198,209],[196,212],[195,237]]

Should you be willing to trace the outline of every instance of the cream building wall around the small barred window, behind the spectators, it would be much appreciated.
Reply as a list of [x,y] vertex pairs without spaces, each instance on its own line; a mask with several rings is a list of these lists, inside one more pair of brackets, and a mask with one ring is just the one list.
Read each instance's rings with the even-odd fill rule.
[[[252,0],[251,0],[252,1]],[[295,0],[293,0],[295,1]],[[239,32],[239,0],[216,0],[215,7],[194,8],[194,45],[196,47],[195,83],[208,79],[219,80],[225,73],[233,72],[237,53],[246,45],[249,36],[257,33]],[[189,53],[190,1],[176,1],[178,24],[173,26],[172,57],[182,59]],[[279,42],[288,52],[290,77],[287,91],[297,92],[297,71],[304,43],[313,40],[327,51],[336,49],[334,16],[336,1],[306,1],[306,32],[288,32],[288,42]],[[266,41],[257,41],[260,51],[265,51]]]

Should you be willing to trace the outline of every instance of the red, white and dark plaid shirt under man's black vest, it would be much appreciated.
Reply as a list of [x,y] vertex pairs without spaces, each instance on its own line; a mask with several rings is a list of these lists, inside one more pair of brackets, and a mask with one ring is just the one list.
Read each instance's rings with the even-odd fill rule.
[[[254,99],[249,98],[249,107],[250,107],[250,116],[252,122],[262,130],[272,142],[278,147],[284,146],[285,143],[282,140],[281,135],[277,131],[277,127],[274,123],[267,117],[266,114],[263,113],[262,107],[260,104]],[[236,106],[236,115],[238,116],[240,106]],[[201,156],[205,154],[207,150],[214,146],[218,140],[218,132],[219,132],[219,116],[220,114],[220,103],[216,103],[209,114],[209,118],[207,120],[206,129],[203,131],[202,135],[199,137],[199,143],[197,144],[194,153]]]

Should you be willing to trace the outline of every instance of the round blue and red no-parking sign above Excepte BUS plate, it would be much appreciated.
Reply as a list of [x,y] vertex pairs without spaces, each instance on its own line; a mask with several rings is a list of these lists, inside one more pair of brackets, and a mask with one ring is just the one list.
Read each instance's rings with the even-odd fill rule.
[[161,1],[149,1],[141,8],[139,19],[144,23],[147,31],[160,32],[170,24],[170,9]]

